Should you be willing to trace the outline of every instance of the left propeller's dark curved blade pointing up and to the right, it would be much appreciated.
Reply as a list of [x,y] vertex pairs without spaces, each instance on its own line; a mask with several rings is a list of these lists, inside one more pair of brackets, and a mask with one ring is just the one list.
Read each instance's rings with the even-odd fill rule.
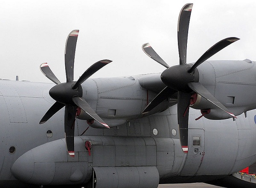
[[73,89],[76,89],[77,87],[79,87],[85,80],[87,80],[87,78],[89,78],[91,75],[93,75],[95,72],[97,72],[99,69],[101,69],[102,67],[104,67],[105,65],[111,63],[111,60],[101,60],[96,62],[95,64],[93,64],[92,66],[90,66],[82,75],[81,77],[78,79],[78,81],[76,81],[76,84],[72,87]]

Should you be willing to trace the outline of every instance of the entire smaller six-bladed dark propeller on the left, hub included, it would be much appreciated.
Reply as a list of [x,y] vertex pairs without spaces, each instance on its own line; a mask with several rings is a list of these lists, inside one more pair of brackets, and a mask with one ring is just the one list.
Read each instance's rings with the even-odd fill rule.
[[109,128],[109,126],[96,114],[96,112],[90,107],[90,105],[82,97],[83,90],[81,84],[87,80],[96,71],[109,64],[110,60],[98,61],[89,67],[78,79],[74,82],[74,59],[76,52],[76,41],[79,34],[79,30],[73,30],[70,32],[65,47],[65,68],[67,82],[61,83],[58,78],[52,73],[47,63],[41,64],[40,69],[44,75],[53,81],[55,84],[52,89],[49,90],[49,95],[56,101],[52,107],[45,113],[39,124],[45,123],[61,108],[65,107],[64,114],[64,131],[67,144],[67,150],[71,157],[75,156],[74,147],[74,130],[76,120],[76,110],[81,108],[85,113],[91,117],[90,120],[96,120],[102,127]]

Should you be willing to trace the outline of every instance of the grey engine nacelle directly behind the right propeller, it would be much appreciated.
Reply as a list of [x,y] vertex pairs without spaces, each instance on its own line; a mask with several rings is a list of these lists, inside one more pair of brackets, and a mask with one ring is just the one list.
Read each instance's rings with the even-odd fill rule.
[[[255,109],[256,80],[254,76],[248,76],[256,71],[254,61],[206,61],[198,70],[204,72],[199,75],[199,81],[236,116]],[[229,118],[221,114],[223,119]],[[211,113],[205,117],[217,119]]]

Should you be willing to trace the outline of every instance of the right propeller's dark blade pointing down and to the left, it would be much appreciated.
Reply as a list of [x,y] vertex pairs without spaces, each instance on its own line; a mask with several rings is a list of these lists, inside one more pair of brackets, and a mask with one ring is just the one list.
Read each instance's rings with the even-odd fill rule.
[[148,104],[148,106],[143,110],[142,114],[148,113],[150,110],[157,107],[158,104],[163,102],[166,98],[176,93],[176,90],[172,90],[169,87],[164,88],[157,96]]

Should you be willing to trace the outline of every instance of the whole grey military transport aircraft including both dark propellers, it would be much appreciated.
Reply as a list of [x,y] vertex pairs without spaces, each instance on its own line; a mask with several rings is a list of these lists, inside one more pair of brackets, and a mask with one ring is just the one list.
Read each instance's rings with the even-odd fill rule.
[[[225,38],[186,62],[192,4],[178,19],[180,62],[162,73],[73,81],[79,30],[67,38],[61,83],[0,81],[0,187],[156,188],[211,182],[256,162],[254,61],[207,61],[239,40]],[[241,184],[243,185],[243,184]]]

